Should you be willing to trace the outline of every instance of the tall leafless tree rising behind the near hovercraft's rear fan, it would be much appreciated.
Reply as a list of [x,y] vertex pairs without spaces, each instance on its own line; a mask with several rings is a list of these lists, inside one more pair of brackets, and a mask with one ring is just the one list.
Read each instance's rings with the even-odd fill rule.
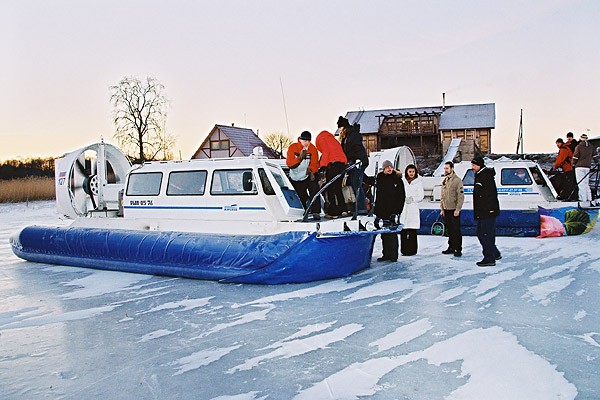
[[139,162],[172,156],[175,138],[166,132],[168,100],[157,79],[125,77],[110,87],[114,137],[129,156]]

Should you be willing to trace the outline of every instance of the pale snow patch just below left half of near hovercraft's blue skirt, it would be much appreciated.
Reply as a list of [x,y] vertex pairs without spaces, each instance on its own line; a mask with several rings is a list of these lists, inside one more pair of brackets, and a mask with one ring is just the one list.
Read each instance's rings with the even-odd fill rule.
[[80,289],[65,293],[64,299],[85,299],[108,293],[120,292],[140,281],[152,278],[151,275],[130,274],[115,271],[93,271],[90,275],[64,282],[64,286],[80,286]]

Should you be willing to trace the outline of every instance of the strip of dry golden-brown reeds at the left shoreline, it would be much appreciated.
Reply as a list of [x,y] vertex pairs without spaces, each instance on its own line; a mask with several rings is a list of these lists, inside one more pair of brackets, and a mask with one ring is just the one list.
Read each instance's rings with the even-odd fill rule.
[[0,203],[20,203],[35,200],[53,200],[53,178],[23,178],[0,180]]

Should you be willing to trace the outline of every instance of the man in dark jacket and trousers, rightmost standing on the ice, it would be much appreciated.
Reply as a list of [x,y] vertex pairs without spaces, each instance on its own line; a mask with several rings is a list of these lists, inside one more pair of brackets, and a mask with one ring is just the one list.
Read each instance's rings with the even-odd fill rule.
[[502,258],[496,247],[496,217],[500,214],[498,190],[496,189],[496,171],[486,168],[482,157],[471,161],[475,172],[473,186],[473,214],[477,221],[477,238],[483,247],[483,260],[477,263],[480,267],[491,267]]

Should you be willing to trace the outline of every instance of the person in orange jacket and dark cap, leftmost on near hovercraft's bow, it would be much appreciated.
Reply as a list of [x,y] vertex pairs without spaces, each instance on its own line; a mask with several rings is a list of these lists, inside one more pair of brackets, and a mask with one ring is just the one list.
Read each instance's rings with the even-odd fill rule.
[[[316,177],[319,170],[319,153],[310,142],[311,136],[308,131],[302,132],[298,141],[288,148],[285,162],[290,168],[290,181],[304,208],[319,191],[319,180]],[[313,219],[321,218],[321,202],[318,199],[312,204],[310,213]]]

